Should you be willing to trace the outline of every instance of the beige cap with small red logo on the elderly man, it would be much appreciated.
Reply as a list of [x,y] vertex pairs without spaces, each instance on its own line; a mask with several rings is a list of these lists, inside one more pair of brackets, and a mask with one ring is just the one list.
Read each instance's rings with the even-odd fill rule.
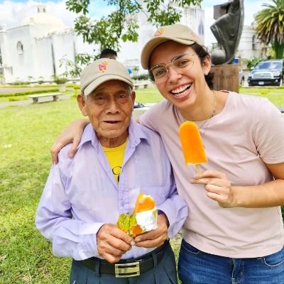
[[84,67],[80,79],[82,94],[91,94],[100,84],[109,80],[123,81],[133,88],[133,82],[124,65],[114,59],[101,58]]

